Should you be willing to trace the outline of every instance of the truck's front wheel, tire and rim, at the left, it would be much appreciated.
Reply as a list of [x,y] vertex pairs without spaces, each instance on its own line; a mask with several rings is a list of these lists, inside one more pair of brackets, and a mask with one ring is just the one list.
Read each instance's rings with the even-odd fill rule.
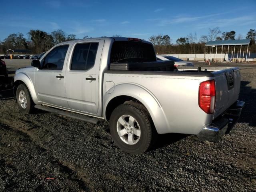
[[[31,114],[34,110],[34,102],[25,84],[20,84],[16,90],[18,108],[23,114]],[[23,104],[22,104],[23,102]]]

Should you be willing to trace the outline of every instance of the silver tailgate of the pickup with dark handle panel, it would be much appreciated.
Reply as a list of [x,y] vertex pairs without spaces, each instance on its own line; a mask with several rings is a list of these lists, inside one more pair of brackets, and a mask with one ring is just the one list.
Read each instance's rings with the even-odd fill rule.
[[238,100],[240,72],[239,68],[230,68],[214,72],[214,76],[216,84],[215,119]]

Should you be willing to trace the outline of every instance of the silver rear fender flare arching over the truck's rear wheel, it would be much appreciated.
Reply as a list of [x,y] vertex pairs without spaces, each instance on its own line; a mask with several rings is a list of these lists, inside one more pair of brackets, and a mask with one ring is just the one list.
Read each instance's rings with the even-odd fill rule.
[[114,86],[114,91],[111,94],[105,93],[103,107],[103,117],[105,120],[108,103],[118,96],[130,96],[139,100],[150,113],[158,134],[170,132],[170,126],[163,108],[154,94],[145,87],[139,84],[132,84],[130,82],[117,84]]

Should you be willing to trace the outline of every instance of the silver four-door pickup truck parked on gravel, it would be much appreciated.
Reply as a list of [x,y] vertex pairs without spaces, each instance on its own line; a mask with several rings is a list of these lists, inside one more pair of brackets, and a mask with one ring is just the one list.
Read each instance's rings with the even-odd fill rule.
[[16,71],[14,93],[24,114],[38,108],[109,121],[114,142],[131,154],[148,150],[158,134],[217,141],[244,106],[239,68],[173,65],[157,61],[152,44],[141,39],[62,42]]

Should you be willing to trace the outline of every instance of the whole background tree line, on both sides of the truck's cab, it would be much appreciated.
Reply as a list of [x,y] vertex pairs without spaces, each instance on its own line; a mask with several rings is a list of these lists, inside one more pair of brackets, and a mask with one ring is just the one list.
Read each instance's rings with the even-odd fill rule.
[[[115,37],[121,37],[116,34]],[[105,37],[105,36],[104,36]],[[84,38],[89,38],[84,35]],[[256,30],[250,29],[246,34],[246,39],[252,40],[250,46],[251,52],[256,52]],[[0,54],[6,54],[8,49],[26,49],[31,50],[34,54],[40,54],[48,51],[52,46],[60,42],[75,40],[75,34],[66,35],[63,30],[56,30],[51,33],[42,30],[30,30],[28,38],[22,33],[10,34],[6,39],[0,42]],[[234,30],[230,32],[221,32],[219,27],[209,28],[207,35],[200,36],[199,40],[195,33],[189,33],[186,37],[180,37],[176,44],[172,43],[169,35],[158,34],[150,36],[148,40],[152,42],[158,54],[196,54],[207,53],[209,48],[205,46],[206,42],[212,40],[234,40],[243,39],[241,34],[236,36]]]

